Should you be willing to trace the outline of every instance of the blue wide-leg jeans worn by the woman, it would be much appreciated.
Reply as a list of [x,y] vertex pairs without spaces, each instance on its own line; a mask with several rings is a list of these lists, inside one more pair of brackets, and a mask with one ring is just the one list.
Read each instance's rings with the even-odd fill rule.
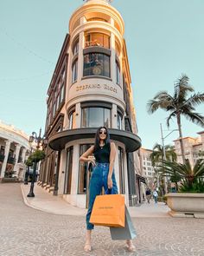
[[[96,166],[92,168],[92,177],[89,183],[89,204],[88,212],[86,214],[86,229],[93,229],[94,225],[89,222],[92,206],[97,195],[101,193],[102,187],[105,191],[108,190],[108,173],[109,173],[109,163],[96,163]],[[112,172],[112,194],[118,194],[118,187],[116,184],[116,178],[114,170]]]

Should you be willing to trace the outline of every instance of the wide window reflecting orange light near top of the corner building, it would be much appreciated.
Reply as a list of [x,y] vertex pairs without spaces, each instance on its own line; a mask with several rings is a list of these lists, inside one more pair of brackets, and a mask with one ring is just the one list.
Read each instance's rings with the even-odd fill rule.
[[110,49],[110,36],[102,33],[90,33],[85,36],[85,48],[100,46]]

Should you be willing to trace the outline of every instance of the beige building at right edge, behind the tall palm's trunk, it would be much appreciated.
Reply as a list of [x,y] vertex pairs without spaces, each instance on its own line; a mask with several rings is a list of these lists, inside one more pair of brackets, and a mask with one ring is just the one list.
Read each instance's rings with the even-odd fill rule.
[[[190,161],[191,166],[198,159],[204,159],[204,131],[197,133],[199,137],[184,137],[182,138],[184,144],[185,158]],[[179,139],[175,140],[175,153],[177,154],[177,162],[182,163],[182,150]]]

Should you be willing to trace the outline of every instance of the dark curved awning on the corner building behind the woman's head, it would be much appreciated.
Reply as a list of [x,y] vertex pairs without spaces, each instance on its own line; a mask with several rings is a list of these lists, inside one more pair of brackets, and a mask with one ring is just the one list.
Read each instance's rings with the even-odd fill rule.
[[[59,151],[65,148],[67,142],[94,138],[96,131],[97,128],[67,129],[51,136],[48,139],[48,145],[50,148]],[[133,152],[141,147],[140,137],[131,132],[113,128],[109,128],[109,132],[111,140],[124,143],[126,152]]]

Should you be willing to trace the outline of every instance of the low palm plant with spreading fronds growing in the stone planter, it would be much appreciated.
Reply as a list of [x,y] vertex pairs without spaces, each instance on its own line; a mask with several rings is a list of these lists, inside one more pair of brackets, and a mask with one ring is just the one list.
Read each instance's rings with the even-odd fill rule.
[[181,190],[190,192],[194,184],[203,182],[204,160],[202,159],[196,161],[194,167],[191,167],[188,160],[184,164],[175,161],[163,161],[163,166],[164,168],[161,167],[160,169],[161,172],[170,176],[171,179],[176,178],[177,181],[182,181]]

